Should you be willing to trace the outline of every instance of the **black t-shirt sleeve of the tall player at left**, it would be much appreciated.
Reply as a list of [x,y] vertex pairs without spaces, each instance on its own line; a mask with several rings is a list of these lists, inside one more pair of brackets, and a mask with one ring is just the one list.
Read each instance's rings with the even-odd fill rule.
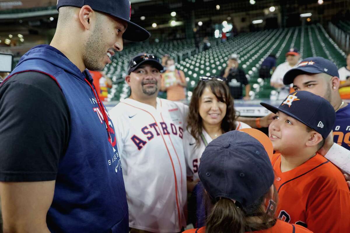
[[57,83],[25,72],[0,87],[0,181],[55,180],[68,147],[70,114]]

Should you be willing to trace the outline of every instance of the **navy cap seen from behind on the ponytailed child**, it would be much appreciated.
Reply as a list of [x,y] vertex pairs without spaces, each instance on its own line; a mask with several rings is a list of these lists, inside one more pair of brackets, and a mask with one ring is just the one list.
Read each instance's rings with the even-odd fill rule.
[[[264,137],[268,139],[266,135]],[[271,141],[264,141],[270,144],[268,147],[272,151]],[[274,181],[264,145],[249,132],[238,130],[224,133],[208,144],[201,157],[198,175],[211,198],[233,199],[242,207],[265,195]]]

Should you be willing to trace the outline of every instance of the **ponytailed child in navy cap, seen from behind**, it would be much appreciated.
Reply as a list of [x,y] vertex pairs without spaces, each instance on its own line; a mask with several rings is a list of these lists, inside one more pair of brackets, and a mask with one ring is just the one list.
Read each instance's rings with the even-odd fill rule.
[[198,175],[211,211],[206,226],[184,233],[312,233],[274,217],[273,147],[256,129],[233,130],[205,148]]

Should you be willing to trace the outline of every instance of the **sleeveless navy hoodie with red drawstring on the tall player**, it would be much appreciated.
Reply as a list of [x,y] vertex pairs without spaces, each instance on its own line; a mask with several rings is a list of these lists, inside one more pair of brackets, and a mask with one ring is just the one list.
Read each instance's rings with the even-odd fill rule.
[[80,72],[48,45],[36,46],[23,55],[9,78],[26,71],[45,73],[56,80],[71,117],[69,144],[58,164],[47,214],[49,230],[128,232],[128,205],[114,127],[89,85],[90,73]]

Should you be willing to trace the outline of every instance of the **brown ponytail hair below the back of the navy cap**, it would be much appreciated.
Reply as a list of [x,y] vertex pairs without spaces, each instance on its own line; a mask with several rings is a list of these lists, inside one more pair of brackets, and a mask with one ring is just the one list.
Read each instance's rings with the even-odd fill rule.
[[[251,231],[259,231],[271,228],[276,223],[274,212],[276,211],[276,203],[278,200],[277,190],[274,186],[273,200],[269,203],[273,204],[273,211],[270,206],[265,211],[262,206],[264,199],[269,199],[270,192],[258,198],[253,204],[242,207],[238,202],[234,203],[228,198],[220,198],[215,201],[205,192],[204,199],[210,199],[211,211],[205,225],[205,233],[244,233]],[[259,218],[259,221],[252,221],[249,217]]]

